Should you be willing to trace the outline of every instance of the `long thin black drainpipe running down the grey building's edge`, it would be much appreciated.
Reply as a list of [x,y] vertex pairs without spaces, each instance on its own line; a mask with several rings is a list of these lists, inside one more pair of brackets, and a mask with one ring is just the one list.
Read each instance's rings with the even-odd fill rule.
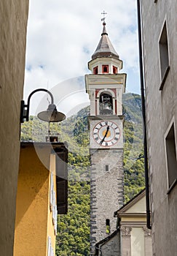
[[152,229],[151,226],[151,211],[149,200],[149,170],[148,170],[148,153],[147,153],[147,137],[146,137],[146,105],[143,84],[143,55],[142,55],[142,37],[141,37],[141,7],[140,1],[137,0],[138,14],[138,45],[139,45],[139,66],[140,66],[140,83],[141,83],[141,106],[143,116],[143,152],[144,152],[144,171],[145,171],[145,187],[146,187],[146,226]]

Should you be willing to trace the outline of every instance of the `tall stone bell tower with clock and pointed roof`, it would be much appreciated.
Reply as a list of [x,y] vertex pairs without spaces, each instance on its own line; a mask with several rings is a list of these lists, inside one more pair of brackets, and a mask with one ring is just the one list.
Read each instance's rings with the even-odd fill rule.
[[[105,18],[103,18],[104,20]],[[90,97],[90,255],[116,229],[114,211],[123,204],[122,94],[126,74],[103,21],[103,33],[85,75]]]

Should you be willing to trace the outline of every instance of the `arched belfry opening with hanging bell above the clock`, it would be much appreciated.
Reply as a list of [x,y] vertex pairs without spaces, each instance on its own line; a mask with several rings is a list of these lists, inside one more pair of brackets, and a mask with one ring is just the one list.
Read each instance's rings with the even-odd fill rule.
[[100,95],[100,114],[111,115],[113,113],[112,97],[109,92],[103,92]]

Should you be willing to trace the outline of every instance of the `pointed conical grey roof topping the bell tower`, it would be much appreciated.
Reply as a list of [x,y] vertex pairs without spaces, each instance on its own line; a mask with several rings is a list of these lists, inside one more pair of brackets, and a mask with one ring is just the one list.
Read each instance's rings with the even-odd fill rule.
[[98,43],[95,53],[93,53],[92,59],[99,57],[114,57],[115,59],[119,59],[119,55],[116,50],[114,50],[114,47],[108,37],[105,22],[103,22],[103,33],[101,34],[100,42]]

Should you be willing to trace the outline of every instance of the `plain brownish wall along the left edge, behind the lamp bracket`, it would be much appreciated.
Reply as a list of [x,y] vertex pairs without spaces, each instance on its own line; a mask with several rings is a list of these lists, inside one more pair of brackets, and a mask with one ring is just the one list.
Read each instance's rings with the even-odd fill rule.
[[28,0],[0,1],[0,250],[12,255]]

